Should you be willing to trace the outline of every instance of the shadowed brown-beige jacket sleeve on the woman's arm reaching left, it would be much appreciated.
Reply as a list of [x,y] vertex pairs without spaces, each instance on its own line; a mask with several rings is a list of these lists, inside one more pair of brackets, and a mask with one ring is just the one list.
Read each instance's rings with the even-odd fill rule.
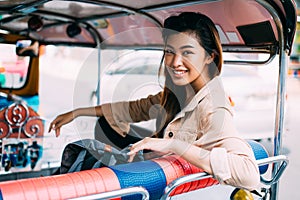
[[110,126],[125,137],[129,131],[129,123],[156,118],[160,97],[161,93],[158,93],[135,101],[103,104],[101,108]]

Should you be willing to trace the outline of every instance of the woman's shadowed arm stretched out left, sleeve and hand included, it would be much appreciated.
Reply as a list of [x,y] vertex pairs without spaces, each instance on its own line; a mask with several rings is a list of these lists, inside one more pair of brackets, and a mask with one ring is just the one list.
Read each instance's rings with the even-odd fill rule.
[[[135,101],[107,103],[95,107],[77,108],[58,115],[51,123],[49,132],[55,130],[56,137],[60,135],[60,128],[80,116],[101,117],[104,116],[109,125],[120,135],[125,136],[129,130],[128,123],[149,120],[154,118],[155,105],[160,102],[160,93],[149,95]],[[127,130],[128,129],[128,130]]]

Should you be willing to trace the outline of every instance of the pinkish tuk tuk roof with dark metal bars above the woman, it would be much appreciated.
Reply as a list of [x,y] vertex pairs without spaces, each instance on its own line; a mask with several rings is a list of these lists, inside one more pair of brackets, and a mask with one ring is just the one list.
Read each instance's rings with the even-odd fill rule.
[[282,39],[291,52],[297,21],[294,0],[4,0],[0,29],[44,44],[156,47],[162,44],[164,19],[183,11],[208,15],[224,51],[278,53]]

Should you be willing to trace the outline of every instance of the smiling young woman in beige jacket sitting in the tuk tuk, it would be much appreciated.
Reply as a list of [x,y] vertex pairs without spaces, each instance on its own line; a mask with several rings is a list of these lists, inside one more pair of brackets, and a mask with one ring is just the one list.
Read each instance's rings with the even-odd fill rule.
[[[130,102],[79,108],[59,115],[50,130],[78,116],[101,117],[105,134],[133,143],[130,160],[140,150],[177,154],[213,174],[223,184],[254,190],[259,170],[251,147],[235,129],[232,110],[219,74],[222,47],[218,31],[207,16],[185,12],[164,22],[165,85],[162,92]],[[130,122],[157,119],[152,137],[138,141],[127,134]],[[105,132],[105,130],[104,130]],[[124,140],[122,140],[122,138]],[[118,142],[118,141],[115,141]]]

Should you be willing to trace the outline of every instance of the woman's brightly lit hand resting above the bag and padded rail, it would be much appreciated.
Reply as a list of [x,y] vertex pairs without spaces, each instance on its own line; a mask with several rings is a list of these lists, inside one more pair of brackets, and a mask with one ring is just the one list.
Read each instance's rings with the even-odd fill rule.
[[161,139],[161,138],[149,138],[146,137],[143,140],[133,144],[130,148],[129,155],[129,162],[131,162],[136,155],[137,152],[147,149],[152,150],[156,152],[160,152],[163,154],[171,153],[172,150],[172,144],[174,140],[173,139]]

